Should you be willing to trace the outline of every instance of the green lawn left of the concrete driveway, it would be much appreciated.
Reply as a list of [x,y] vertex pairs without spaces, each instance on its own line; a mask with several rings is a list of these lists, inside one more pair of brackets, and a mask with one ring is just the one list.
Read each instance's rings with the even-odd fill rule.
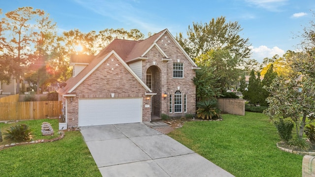
[[[30,120],[23,123],[37,127],[43,121],[47,120]],[[48,122],[53,121],[50,119]],[[56,132],[58,120],[57,125],[55,123],[52,123],[52,126]],[[0,126],[2,129],[4,125]],[[38,130],[34,130],[34,139],[47,138],[38,135]],[[0,163],[1,177],[101,177],[79,131],[66,131],[63,139],[55,142],[0,150]]]

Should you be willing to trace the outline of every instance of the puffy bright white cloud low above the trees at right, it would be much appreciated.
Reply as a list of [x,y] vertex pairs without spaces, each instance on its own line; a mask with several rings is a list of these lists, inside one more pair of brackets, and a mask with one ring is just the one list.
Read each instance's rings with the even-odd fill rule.
[[264,45],[257,48],[251,46],[250,49],[252,49],[251,59],[256,59],[259,62],[262,62],[264,58],[272,58],[275,55],[279,55],[280,57],[282,57],[285,53],[284,50],[280,49],[277,46],[273,47],[272,49]]

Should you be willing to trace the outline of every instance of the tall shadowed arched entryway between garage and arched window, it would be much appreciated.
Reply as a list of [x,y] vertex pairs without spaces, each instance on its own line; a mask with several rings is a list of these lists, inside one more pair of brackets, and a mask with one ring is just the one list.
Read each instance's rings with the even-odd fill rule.
[[161,77],[158,66],[150,66],[146,75],[147,86],[157,95],[151,99],[151,116],[160,117],[161,114]]

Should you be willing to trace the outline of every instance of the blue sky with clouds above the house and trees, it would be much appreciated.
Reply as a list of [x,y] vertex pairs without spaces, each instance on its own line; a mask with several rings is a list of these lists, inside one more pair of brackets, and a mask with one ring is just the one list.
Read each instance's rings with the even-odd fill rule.
[[296,50],[294,38],[315,19],[314,0],[1,0],[3,13],[18,7],[45,10],[60,31],[139,29],[145,35],[163,29],[175,36],[192,22],[209,23],[225,16],[243,28],[252,44],[252,59],[262,61]]

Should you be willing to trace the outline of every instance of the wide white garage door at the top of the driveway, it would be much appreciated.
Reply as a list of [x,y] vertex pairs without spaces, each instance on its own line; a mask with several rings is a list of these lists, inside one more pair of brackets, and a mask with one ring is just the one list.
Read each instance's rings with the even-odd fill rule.
[[142,121],[142,98],[79,99],[79,126]]

